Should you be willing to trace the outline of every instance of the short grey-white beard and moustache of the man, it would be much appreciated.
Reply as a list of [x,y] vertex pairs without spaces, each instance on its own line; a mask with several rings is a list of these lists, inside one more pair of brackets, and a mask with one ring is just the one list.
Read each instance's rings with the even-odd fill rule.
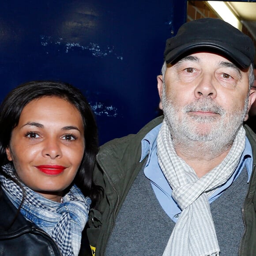
[[[211,98],[200,98],[195,102],[177,107],[171,97],[166,97],[163,91],[162,106],[164,116],[169,125],[173,144],[179,145],[184,150],[198,148],[201,154],[211,154],[212,157],[228,150],[235,139],[248,108],[249,94],[245,100],[244,109],[234,109],[227,113],[220,105]],[[217,113],[213,116],[190,115],[190,112],[210,111]],[[207,125],[208,124],[208,125]],[[207,128],[203,128],[203,126]]]

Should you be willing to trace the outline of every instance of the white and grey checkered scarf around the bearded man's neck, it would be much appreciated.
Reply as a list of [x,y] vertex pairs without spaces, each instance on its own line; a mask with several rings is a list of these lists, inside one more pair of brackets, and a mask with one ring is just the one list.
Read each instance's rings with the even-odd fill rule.
[[158,162],[173,189],[172,196],[182,212],[166,245],[164,256],[218,256],[220,249],[207,196],[224,184],[236,169],[245,148],[241,127],[226,158],[209,173],[195,171],[173,147],[166,120],[157,138]]

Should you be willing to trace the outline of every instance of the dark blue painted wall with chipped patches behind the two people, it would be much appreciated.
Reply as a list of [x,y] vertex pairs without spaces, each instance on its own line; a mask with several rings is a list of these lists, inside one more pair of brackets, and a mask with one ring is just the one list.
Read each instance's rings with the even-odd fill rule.
[[135,133],[158,115],[156,76],[185,0],[8,0],[0,8],[0,101],[31,80],[79,87],[100,143]]

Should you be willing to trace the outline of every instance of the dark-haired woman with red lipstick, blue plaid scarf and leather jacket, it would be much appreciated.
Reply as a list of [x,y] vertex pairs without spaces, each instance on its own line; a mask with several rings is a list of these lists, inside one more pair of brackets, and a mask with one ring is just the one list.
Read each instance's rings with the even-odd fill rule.
[[[101,196],[97,128],[81,92],[39,81],[0,106],[0,255],[88,255],[82,232]],[[80,248],[81,245],[81,248]]]

